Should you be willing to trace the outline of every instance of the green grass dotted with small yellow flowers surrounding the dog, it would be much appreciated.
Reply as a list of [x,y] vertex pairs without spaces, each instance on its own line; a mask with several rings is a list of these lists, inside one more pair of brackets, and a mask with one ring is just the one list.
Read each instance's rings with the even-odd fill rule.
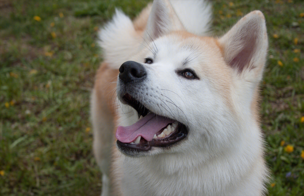
[[[89,121],[90,90],[102,61],[97,28],[115,7],[133,18],[146,4],[0,1],[1,195],[100,194]],[[270,46],[261,113],[273,176],[269,195],[303,195],[304,2],[212,4],[215,35],[252,10],[265,15]]]

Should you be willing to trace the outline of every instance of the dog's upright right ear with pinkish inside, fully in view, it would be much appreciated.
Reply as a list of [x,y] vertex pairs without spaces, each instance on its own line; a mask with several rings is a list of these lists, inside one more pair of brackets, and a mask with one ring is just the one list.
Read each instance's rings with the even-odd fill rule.
[[230,29],[219,43],[226,63],[238,78],[253,83],[261,80],[266,60],[268,39],[262,12],[253,11]]

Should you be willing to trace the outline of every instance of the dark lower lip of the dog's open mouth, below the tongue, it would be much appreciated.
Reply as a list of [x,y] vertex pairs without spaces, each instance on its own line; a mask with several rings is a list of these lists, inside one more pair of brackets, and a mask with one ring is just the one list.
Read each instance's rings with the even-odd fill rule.
[[119,150],[123,151],[125,154],[134,156],[140,152],[150,151],[152,147],[170,147],[173,144],[185,139],[188,135],[188,129],[185,125],[178,123],[176,133],[168,138],[164,139],[153,139],[152,141],[147,141],[141,138],[139,144],[129,144],[123,143],[119,140],[116,141]]

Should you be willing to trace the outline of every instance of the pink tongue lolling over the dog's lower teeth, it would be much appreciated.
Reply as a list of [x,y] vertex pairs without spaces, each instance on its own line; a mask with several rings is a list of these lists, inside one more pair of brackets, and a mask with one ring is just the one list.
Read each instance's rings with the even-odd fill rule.
[[158,131],[172,122],[174,121],[169,118],[150,113],[133,125],[127,127],[119,126],[116,130],[116,138],[123,143],[133,142],[138,136],[151,141]]

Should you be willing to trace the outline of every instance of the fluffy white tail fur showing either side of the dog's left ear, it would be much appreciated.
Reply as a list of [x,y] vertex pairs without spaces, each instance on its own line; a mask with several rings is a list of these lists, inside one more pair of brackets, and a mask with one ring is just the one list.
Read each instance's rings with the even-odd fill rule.
[[[188,32],[196,35],[205,35],[209,32],[212,7],[208,2],[204,0],[171,0],[170,2]],[[121,64],[130,60],[136,49],[144,42],[140,33],[136,32],[131,19],[117,9],[112,21],[100,30],[98,36],[104,59],[113,69],[118,69]]]

